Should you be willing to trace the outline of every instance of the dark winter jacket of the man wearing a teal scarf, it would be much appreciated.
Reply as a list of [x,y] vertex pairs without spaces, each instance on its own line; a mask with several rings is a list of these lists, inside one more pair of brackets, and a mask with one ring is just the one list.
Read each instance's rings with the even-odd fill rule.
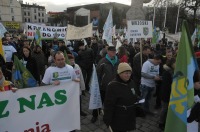
[[[117,59],[117,58],[116,58]],[[97,77],[100,90],[106,91],[106,88],[115,76],[117,75],[117,67],[119,60],[113,65],[106,57],[102,58],[97,65]]]

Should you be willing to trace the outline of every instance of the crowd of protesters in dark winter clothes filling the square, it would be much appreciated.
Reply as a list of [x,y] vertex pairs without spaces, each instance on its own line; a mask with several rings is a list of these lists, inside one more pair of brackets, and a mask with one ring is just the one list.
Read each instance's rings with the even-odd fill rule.
[[[54,38],[43,40],[42,45],[37,45],[24,35],[7,32],[2,38],[6,61],[0,56],[4,80],[12,81],[13,55],[16,55],[37,80],[38,85],[50,84],[46,80],[46,72],[58,66],[56,57],[62,59],[63,52],[66,52],[71,66],[81,73],[78,76],[82,80],[82,94],[90,90],[93,64],[96,65],[100,95],[105,104],[104,122],[114,132],[136,129],[136,117],[141,115],[138,111],[144,112],[142,117],[146,114],[154,115],[149,104],[152,94],[156,98],[154,108],[162,109],[159,127],[164,129],[178,42],[168,42],[163,38],[157,44],[143,39],[129,43],[125,38],[116,37],[113,39],[113,46],[109,46],[101,38],[102,34],[86,38],[87,44],[83,40],[65,42]],[[122,43],[118,49],[115,47],[117,40]],[[194,49],[197,58],[200,58],[199,47],[195,45]],[[197,61],[200,62],[198,59]],[[142,111],[135,105],[140,99],[145,99],[140,108]],[[97,121],[99,112],[100,109],[93,110],[92,123]],[[87,116],[82,110],[80,115]]]

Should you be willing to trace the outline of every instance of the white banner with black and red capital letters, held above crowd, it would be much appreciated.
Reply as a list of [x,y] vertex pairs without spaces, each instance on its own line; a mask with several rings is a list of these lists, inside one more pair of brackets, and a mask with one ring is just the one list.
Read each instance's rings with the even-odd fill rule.
[[24,30],[26,32],[27,38],[33,39],[37,29],[40,30],[42,39],[52,39],[54,36],[56,36],[58,39],[64,39],[67,31],[67,27],[53,27],[25,23]]

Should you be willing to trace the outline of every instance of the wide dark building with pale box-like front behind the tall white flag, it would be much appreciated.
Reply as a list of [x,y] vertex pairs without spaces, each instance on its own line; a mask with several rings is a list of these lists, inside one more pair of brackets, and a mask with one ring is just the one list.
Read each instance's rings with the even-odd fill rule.
[[126,19],[126,12],[129,8],[130,6],[128,5],[110,2],[69,7],[66,12],[69,17],[68,21],[72,25],[84,26],[93,22],[94,27],[102,29],[109,10],[112,9],[113,23],[116,24],[117,28],[123,28],[126,26],[124,20]]

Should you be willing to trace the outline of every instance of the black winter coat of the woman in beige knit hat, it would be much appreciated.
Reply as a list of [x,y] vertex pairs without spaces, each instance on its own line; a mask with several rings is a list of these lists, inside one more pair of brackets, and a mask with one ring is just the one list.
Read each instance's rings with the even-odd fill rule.
[[133,81],[124,82],[120,77],[108,85],[104,101],[104,117],[106,125],[116,131],[130,131],[135,129],[137,97],[133,88]]

